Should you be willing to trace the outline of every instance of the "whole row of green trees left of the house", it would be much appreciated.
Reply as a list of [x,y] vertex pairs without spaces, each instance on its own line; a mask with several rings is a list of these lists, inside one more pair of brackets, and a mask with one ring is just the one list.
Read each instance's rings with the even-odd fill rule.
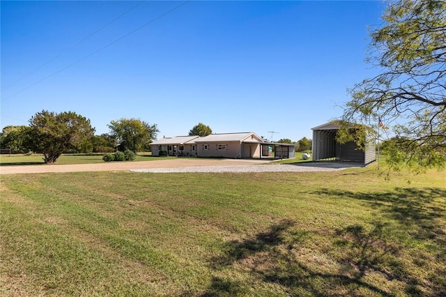
[[109,133],[95,135],[89,119],[75,112],[43,110],[29,125],[8,125],[0,132],[0,148],[13,153],[42,153],[45,163],[54,163],[62,153],[112,153],[148,151],[156,139],[156,124],[139,119],[119,119],[108,125]]

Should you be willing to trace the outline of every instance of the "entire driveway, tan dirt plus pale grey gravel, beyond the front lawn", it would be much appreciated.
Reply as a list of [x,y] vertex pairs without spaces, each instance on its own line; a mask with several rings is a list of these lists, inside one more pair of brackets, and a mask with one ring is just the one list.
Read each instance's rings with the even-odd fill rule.
[[169,159],[142,162],[104,162],[73,165],[0,166],[0,174],[38,174],[47,172],[330,172],[358,167],[351,162],[306,162],[295,165],[273,165],[270,160],[245,159]]

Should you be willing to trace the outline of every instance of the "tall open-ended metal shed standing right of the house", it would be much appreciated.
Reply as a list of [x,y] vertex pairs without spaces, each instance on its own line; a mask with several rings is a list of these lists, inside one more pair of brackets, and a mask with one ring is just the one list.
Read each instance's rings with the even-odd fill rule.
[[364,166],[376,161],[376,141],[365,137],[364,148],[359,148],[355,142],[340,144],[336,140],[339,126],[336,123],[325,123],[312,128],[313,130],[313,161],[339,160],[362,162]]

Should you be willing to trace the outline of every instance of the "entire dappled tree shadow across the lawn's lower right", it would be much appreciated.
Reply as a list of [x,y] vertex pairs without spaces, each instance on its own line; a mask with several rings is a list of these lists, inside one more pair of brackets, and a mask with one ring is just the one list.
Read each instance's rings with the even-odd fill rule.
[[[259,284],[290,296],[446,296],[444,224],[435,222],[445,217],[446,204],[432,203],[445,199],[445,190],[316,194],[367,201],[384,218],[314,232],[284,220],[243,240],[228,241],[210,259],[219,276],[213,276],[201,296],[245,296]],[[401,226],[406,229],[396,230]],[[413,246],[424,243],[427,250]],[[222,277],[228,269],[245,275],[244,281],[237,273]]]

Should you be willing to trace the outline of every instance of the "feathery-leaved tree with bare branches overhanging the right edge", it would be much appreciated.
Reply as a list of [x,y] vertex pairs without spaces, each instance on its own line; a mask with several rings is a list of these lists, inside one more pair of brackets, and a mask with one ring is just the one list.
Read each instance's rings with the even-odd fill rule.
[[[356,84],[344,120],[390,134],[390,158],[420,168],[446,162],[446,1],[391,1],[371,31],[380,74]],[[393,131],[387,130],[393,126]],[[397,151],[395,151],[397,150]],[[394,161],[397,161],[395,159]]]

